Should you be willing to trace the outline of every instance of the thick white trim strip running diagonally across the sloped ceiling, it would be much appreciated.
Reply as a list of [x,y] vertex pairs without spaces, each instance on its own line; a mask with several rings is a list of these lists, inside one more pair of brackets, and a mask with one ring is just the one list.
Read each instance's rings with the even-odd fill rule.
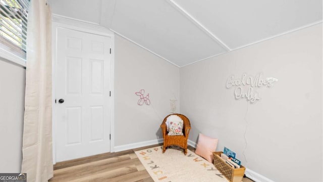
[[182,13],[188,20],[190,20],[195,26],[201,29],[205,34],[215,40],[217,43],[221,45],[226,51],[231,51],[231,49],[226,45],[220,38],[214,35],[211,31],[209,31],[204,25],[202,25],[199,21],[197,21],[192,15],[190,15],[184,8],[182,8],[179,4],[175,3],[174,0],[165,0],[167,3],[172,5],[177,11]]

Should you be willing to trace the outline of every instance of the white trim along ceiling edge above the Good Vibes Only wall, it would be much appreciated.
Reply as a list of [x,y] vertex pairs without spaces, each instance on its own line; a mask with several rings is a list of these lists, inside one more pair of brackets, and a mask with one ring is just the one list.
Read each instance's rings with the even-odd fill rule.
[[305,25],[305,26],[301,26],[301,27],[295,28],[295,29],[290,30],[290,31],[286,31],[284,33],[280,33],[280,34],[277,34],[277,35],[274,35],[274,36],[271,36],[271,37],[268,37],[268,38],[265,38],[265,39],[262,39],[262,40],[259,40],[259,41],[255,41],[255,42],[252,42],[252,43],[249,43],[249,44],[246,44],[246,45],[242,45],[241,47],[238,47],[236,49],[233,49],[233,50],[225,52],[225,53],[220,53],[220,54],[212,55],[212,56],[209,56],[209,57],[206,57],[206,58],[202,58],[200,60],[197,60],[197,61],[194,61],[192,63],[189,63],[189,64],[186,64],[184,66],[181,66],[180,68],[183,68],[183,67],[191,65],[191,64],[195,64],[195,63],[200,62],[200,61],[207,60],[209,58],[213,58],[213,57],[221,56],[221,55],[233,52],[233,51],[237,51],[237,50],[249,47],[250,45],[254,45],[254,44],[257,44],[257,43],[260,43],[260,42],[263,42],[263,41],[266,41],[266,40],[270,40],[270,39],[273,39],[273,38],[276,38],[276,37],[279,37],[279,36],[282,36],[282,35],[286,35],[288,33],[292,33],[292,32],[295,32],[295,31],[298,31],[298,30],[301,30],[301,29],[304,29],[304,28],[308,28],[308,27],[311,27],[311,26],[314,26],[314,25],[318,25],[318,24],[320,24],[322,22],[323,22],[322,20],[319,20],[317,22],[314,22],[314,23],[311,23],[311,24],[308,24],[308,25]]

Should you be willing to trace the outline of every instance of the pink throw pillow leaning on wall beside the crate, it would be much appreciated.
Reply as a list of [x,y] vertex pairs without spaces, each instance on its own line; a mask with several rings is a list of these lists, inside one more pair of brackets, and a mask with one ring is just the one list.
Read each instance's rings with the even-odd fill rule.
[[195,154],[203,157],[209,162],[213,162],[213,154],[218,146],[219,139],[212,139],[208,136],[200,133],[198,135],[197,147],[195,150]]

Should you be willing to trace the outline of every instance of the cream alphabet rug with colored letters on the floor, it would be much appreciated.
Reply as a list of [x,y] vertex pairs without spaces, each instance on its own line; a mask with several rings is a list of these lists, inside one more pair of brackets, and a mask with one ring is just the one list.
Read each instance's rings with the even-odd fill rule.
[[154,181],[197,182],[228,181],[216,167],[190,150],[172,146],[163,154],[163,146],[135,152]]

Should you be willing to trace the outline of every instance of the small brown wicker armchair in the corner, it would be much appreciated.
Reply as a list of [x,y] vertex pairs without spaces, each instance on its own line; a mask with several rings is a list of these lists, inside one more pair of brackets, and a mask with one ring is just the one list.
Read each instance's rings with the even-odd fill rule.
[[[183,135],[168,135],[167,131],[167,125],[166,125],[166,120],[167,117],[170,115],[177,115],[180,118],[183,119],[184,124],[183,124]],[[181,147],[184,149],[184,154],[187,154],[187,139],[188,139],[188,134],[191,129],[191,124],[190,120],[184,116],[183,114],[170,114],[165,117],[163,123],[161,123],[161,131],[163,132],[163,138],[164,138],[164,148],[163,148],[163,153],[166,151],[166,147],[175,145],[178,147]]]

